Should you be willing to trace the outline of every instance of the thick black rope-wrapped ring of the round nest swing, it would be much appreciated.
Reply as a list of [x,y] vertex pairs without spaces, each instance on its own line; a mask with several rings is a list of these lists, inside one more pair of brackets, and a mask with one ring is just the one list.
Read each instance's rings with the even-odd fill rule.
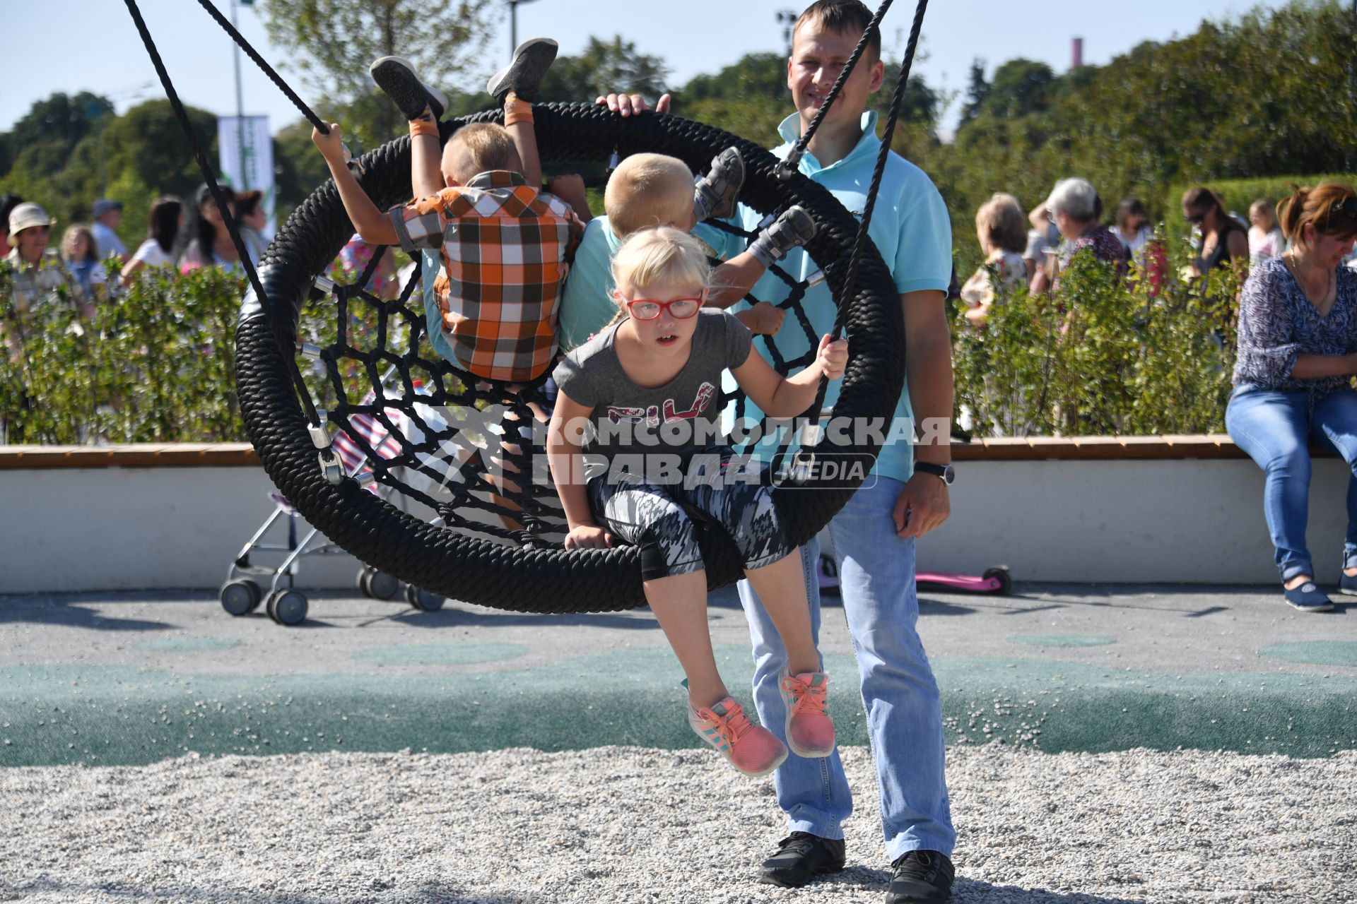
[[[441,138],[446,141],[468,122],[494,121],[499,115],[499,111],[486,111],[444,122]],[[822,266],[839,304],[839,321],[852,335],[851,358],[835,416],[889,423],[904,381],[904,328],[898,295],[879,253],[867,243],[871,247],[860,256],[852,297],[844,298],[859,224],[828,191],[801,173],[791,173],[790,178],[779,175],[779,161],[763,148],[680,117],[650,112],[623,118],[590,104],[539,104],[536,129],[544,164],[597,161],[613,152],[627,156],[651,150],[678,157],[700,172],[722,149],[738,148],[746,171],[742,203],[760,213],[799,203],[816,218],[818,232],[806,251]],[[379,207],[408,199],[408,138],[399,138],[365,155],[358,167],[362,173],[360,182]],[[326,478],[318,466],[316,446],[297,407],[288,362],[280,347],[294,347],[301,305],[312,290],[315,276],[327,271],[350,236],[351,225],[339,194],[334,183],[327,182],[297,207],[261,262],[258,274],[269,310],[263,309],[254,290],[242,306],[236,329],[237,393],[250,440],[278,489],[311,525],[357,558],[436,594],[533,613],[617,611],[645,604],[636,548],[565,550],[559,543],[514,546],[429,523],[365,492],[356,480],[332,484]],[[404,297],[408,295],[407,289]],[[784,302],[788,308],[784,329],[794,328],[794,319],[799,316],[798,298],[799,293],[794,293],[790,304]],[[418,337],[421,308],[413,313],[402,306],[400,300],[377,304],[383,305],[385,316],[398,314],[410,323]],[[803,316],[799,319],[805,323]],[[385,317],[379,332],[385,332]],[[757,344],[768,354],[767,343]],[[322,354],[327,365],[335,361],[335,351],[327,348]],[[375,386],[381,382],[372,366],[375,362],[400,373],[403,400],[392,400],[379,392],[375,404],[379,412],[394,405],[408,407],[417,398],[436,405],[456,397],[456,390],[444,389],[452,382],[445,384],[445,378],[456,371],[432,351],[421,350],[418,342],[410,342],[404,351],[381,347],[365,356],[351,348],[341,351],[365,361]],[[772,355],[769,358],[775,363],[786,363]],[[415,379],[421,375],[426,385],[436,386],[432,396],[415,394]],[[467,400],[470,396],[463,397],[463,401]],[[347,426],[349,413],[372,408],[354,405],[341,396],[328,415],[331,423]],[[404,489],[398,468],[417,465],[421,453],[427,453],[427,449],[413,445],[389,459],[370,454],[372,449],[365,451],[379,482]],[[839,461],[868,461],[877,451],[878,447],[870,442],[833,447]],[[537,454],[543,454],[540,449]],[[775,500],[791,539],[797,543],[809,541],[854,489],[841,478],[816,476],[813,472],[802,472],[799,477],[780,484],[775,489]],[[550,512],[550,506],[539,507],[532,501],[524,508],[529,516]],[[448,508],[442,511],[452,514]],[[738,580],[741,562],[730,538],[721,530],[700,533],[710,587]]]

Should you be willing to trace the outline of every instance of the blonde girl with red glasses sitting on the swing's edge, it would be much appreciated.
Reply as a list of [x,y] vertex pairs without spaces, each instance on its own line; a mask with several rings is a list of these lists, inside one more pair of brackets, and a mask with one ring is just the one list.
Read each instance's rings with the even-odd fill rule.
[[[740,548],[788,651],[786,735],[799,756],[829,756],[828,676],[810,628],[801,557],[761,480],[721,430],[721,374],[771,417],[795,417],[820,378],[837,379],[848,343],[824,336],[814,363],[782,377],[753,352],[735,316],[703,309],[711,270],[702,244],[661,226],[634,233],[613,258],[619,317],[555,370],[560,388],[547,454],[570,533],[566,549],[641,548],[646,600],[687,676],[688,722],[746,775],[787,756],[726,690],[707,630],[707,575],[693,519]],[[765,462],[764,462],[765,464]]]

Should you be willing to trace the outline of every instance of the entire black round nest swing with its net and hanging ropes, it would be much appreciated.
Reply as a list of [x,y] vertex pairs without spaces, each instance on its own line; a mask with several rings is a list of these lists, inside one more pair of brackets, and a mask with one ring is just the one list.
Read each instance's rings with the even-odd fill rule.
[[[501,416],[499,432],[506,436],[517,432],[520,439],[501,442],[497,454],[512,461],[513,468],[506,470],[517,470],[520,477],[528,474],[533,457],[539,461],[544,457],[540,447],[533,449],[522,442],[527,438],[524,424],[532,419],[528,403],[541,397],[540,381],[529,386],[468,386],[463,382],[464,374],[437,355],[426,354],[427,343],[422,342],[422,304],[408,304],[417,278],[411,278],[395,301],[377,300],[364,290],[380,255],[373,256],[354,285],[337,287],[327,278],[318,276],[328,271],[353,232],[334,182],[323,184],[297,207],[269,245],[258,270],[248,263],[235,220],[224,201],[227,195],[217,184],[208,157],[194,137],[187,112],[174,89],[137,0],[123,1],[198,168],[213,195],[223,199],[218,206],[223,207],[227,228],[244,263],[251,289],[242,304],[236,328],[236,390],[250,440],[269,477],[290,504],[330,541],[370,568],[433,594],[528,613],[617,611],[645,604],[641,554],[636,548],[566,550],[550,537],[552,531],[565,533],[554,488],[531,478],[516,478],[522,487],[510,487],[503,481],[497,484],[487,480],[484,472],[472,470],[476,462],[486,462],[484,454],[468,453],[461,458],[446,453],[449,440],[467,451],[467,436],[459,438],[457,426],[433,416],[437,408],[452,404],[460,405],[463,411],[482,412],[498,405],[509,413],[508,417]],[[806,244],[806,252],[820,264],[821,271],[805,282],[791,279],[776,266],[769,272],[790,289],[788,295],[778,302],[787,312],[783,329],[795,327],[805,331],[811,348],[816,347],[817,336],[799,302],[813,282],[828,281],[837,305],[835,333],[845,331],[852,335],[848,369],[835,405],[835,416],[855,419],[854,423],[889,423],[904,384],[904,323],[898,297],[886,264],[867,237],[867,224],[871,221],[927,0],[919,0],[915,9],[862,222],[825,188],[797,172],[792,161],[805,152],[867,46],[868,35],[892,1],[882,0],[829,98],[787,163],[779,163],[749,141],[680,117],[654,112],[622,117],[604,107],[578,103],[536,104],[535,108],[543,164],[593,163],[609,156],[650,150],[678,157],[689,169],[700,172],[716,153],[734,146],[745,163],[745,183],[740,197],[742,203],[763,214],[780,211],[792,203],[805,207],[817,224],[816,237]],[[313,126],[322,131],[328,130],[209,0],[198,3]],[[453,131],[470,122],[497,119],[502,121],[502,112],[491,110],[444,122],[440,126],[441,140],[446,141]],[[408,201],[407,137],[365,155],[357,165],[360,183],[379,207]],[[712,225],[746,239],[753,237],[752,233],[723,224]],[[338,337],[324,348],[318,348],[299,342],[299,327],[304,302],[322,286],[332,290],[337,302]],[[376,314],[370,348],[350,343],[349,306],[354,302]],[[362,344],[360,339],[353,342]],[[811,351],[801,359],[784,361],[765,339],[756,337],[756,344],[782,373],[809,365],[814,354]],[[316,409],[297,365],[299,354],[324,362],[326,375],[335,390],[331,411]],[[346,374],[341,374],[341,369]],[[365,378],[358,386],[362,392],[353,392],[354,371]],[[399,377],[399,386],[394,377]],[[357,400],[351,398],[354,394],[358,396]],[[730,397],[727,394],[727,400]],[[733,398],[735,413],[742,413],[744,398],[738,393]],[[816,400],[810,412],[818,413],[821,400],[822,396]],[[362,424],[357,423],[360,417]],[[360,462],[365,464],[373,482],[400,493],[406,500],[423,504],[432,511],[432,516],[418,518],[391,504],[380,493],[368,492],[370,482],[354,478],[361,473],[358,466],[346,470],[341,465],[331,447],[331,439],[338,436],[331,436],[327,420],[330,426],[342,430],[351,447],[360,450]],[[403,426],[398,422],[403,422]],[[384,428],[381,435],[368,432],[373,423]],[[474,430],[494,432],[489,423]],[[854,432],[856,440],[856,431]],[[867,431],[860,443],[833,445],[835,459],[859,466],[870,464],[879,451],[873,436]],[[463,442],[456,442],[459,439]],[[479,443],[471,440],[470,445],[478,446],[483,453],[490,443],[482,435]],[[826,439],[821,439],[809,455],[816,455],[820,450],[829,451]],[[497,464],[501,462],[491,458],[490,465]],[[866,468],[859,473],[866,473]],[[773,492],[791,541],[809,541],[843,507],[858,482],[860,481],[830,476],[828,469],[791,470],[776,484]],[[448,491],[451,500],[440,501],[433,497],[427,489],[430,484]],[[501,492],[508,499],[497,496]],[[487,495],[489,503],[484,499]],[[498,515],[506,522],[506,527],[467,518],[465,511]],[[715,588],[733,583],[742,573],[734,542],[719,527],[703,526],[700,519],[697,522],[708,585]],[[508,529],[508,523],[517,529]],[[304,606],[301,611],[304,614]]]

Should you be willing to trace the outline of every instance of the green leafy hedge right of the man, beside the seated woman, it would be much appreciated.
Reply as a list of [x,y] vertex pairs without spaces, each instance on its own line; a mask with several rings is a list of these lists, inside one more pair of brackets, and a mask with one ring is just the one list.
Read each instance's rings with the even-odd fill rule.
[[1158,294],[1079,255],[1050,295],[1010,293],[982,328],[955,320],[957,404],[977,435],[1196,434],[1224,428],[1239,274]]

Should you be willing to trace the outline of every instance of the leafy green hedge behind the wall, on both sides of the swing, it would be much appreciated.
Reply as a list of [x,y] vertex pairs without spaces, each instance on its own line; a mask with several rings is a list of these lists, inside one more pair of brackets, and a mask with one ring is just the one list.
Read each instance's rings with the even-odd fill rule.
[[[1170,271],[1183,260],[1172,256]],[[8,297],[0,263],[0,304]],[[980,435],[1182,434],[1223,427],[1239,276],[1170,275],[1151,295],[1133,274],[1076,262],[1052,295],[1015,291],[976,329],[957,320],[957,401]],[[244,281],[209,268],[148,272],[81,321],[68,301],[7,314],[0,328],[0,427],[11,443],[244,440],[233,333]],[[5,305],[7,306],[7,305]],[[353,301],[346,342],[370,348],[377,306]],[[408,324],[402,329],[407,329]],[[303,310],[301,336],[335,342],[331,300]],[[395,335],[395,333],[394,333]],[[395,339],[399,343],[399,339]],[[342,358],[337,378],[303,365],[318,408],[358,401],[373,374]],[[338,386],[337,386],[338,382]]]

